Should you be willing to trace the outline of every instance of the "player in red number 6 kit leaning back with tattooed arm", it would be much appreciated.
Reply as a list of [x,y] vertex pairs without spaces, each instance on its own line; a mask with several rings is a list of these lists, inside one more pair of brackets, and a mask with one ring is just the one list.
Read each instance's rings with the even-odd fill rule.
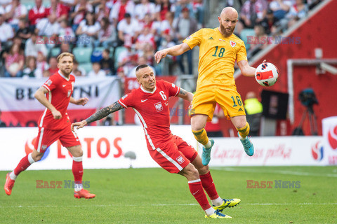
[[190,193],[204,210],[205,218],[231,218],[220,211],[236,206],[241,200],[225,200],[219,197],[209,166],[202,165],[197,151],[170,130],[169,97],[180,97],[191,102],[193,94],[165,80],[156,81],[153,70],[147,64],[136,68],[136,77],[140,84],[138,89],[132,90],[86,120],[72,124],[72,130],[74,127],[79,129],[100,120],[114,111],[131,107],[143,125],[147,149],[152,159],[166,171],[185,176]]

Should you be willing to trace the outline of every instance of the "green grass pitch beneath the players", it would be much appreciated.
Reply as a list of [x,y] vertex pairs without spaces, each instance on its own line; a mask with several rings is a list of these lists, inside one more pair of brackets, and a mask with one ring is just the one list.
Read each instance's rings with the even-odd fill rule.
[[[73,190],[36,188],[37,180],[73,180],[71,170],[26,171],[11,196],[0,193],[0,223],[337,223],[337,167],[211,167],[220,197],[242,202],[206,219],[187,181],[164,169],[90,169],[92,200]],[[6,172],[0,172],[1,188]],[[247,180],[272,181],[272,188],[247,188]],[[300,181],[300,188],[275,188],[275,180]],[[288,186],[288,185],[286,185]]]

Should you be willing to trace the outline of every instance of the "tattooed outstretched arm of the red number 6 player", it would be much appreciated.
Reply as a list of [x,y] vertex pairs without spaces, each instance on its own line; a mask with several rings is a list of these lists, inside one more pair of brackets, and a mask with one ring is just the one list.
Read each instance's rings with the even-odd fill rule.
[[76,127],[76,126],[77,126],[77,129],[80,129],[80,128],[88,125],[88,123],[92,123],[96,120],[100,120],[102,118],[105,118],[110,113],[114,113],[116,111],[119,111],[120,109],[124,109],[124,107],[121,106],[121,104],[119,104],[118,101],[114,102],[110,106],[106,106],[105,108],[100,109],[100,111],[97,111],[92,116],[86,118],[86,120],[82,120],[81,122],[77,122],[77,123],[72,123],[72,131],[74,132],[74,127]]

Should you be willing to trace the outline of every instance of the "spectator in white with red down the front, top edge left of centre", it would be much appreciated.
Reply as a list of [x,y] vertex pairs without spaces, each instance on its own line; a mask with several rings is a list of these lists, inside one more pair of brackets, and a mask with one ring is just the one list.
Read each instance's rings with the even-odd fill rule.
[[128,15],[133,15],[135,10],[135,3],[132,0],[117,0],[112,7],[112,10],[109,15],[109,20],[112,22],[114,27],[117,27],[117,24],[125,18],[126,13]]

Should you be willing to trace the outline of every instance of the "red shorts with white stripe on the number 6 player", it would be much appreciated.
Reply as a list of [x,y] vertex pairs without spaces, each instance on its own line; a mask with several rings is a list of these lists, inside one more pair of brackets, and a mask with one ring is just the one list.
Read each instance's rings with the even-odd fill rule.
[[159,166],[173,174],[180,172],[198,155],[192,146],[176,135],[156,150],[149,148],[149,152]]

